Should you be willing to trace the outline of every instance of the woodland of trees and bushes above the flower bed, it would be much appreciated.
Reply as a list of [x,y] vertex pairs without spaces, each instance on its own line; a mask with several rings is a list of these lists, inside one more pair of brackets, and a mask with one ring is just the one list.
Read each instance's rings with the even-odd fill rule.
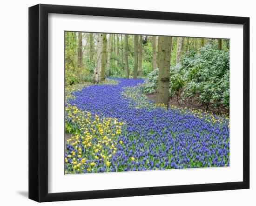
[[66,85],[143,78],[157,104],[229,113],[229,40],[66,32],[65,42]]

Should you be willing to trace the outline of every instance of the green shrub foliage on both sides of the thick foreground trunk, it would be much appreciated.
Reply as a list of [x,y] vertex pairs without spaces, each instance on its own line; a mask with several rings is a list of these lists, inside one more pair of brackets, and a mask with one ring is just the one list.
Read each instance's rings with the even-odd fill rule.
[[[155,93],[158,70],[148,74],[142,92]],[[170,96],[196,98],[206,109],[229,108],[229,52],[207,44],[199,52],[191,49],[181,62],[170,68]]]

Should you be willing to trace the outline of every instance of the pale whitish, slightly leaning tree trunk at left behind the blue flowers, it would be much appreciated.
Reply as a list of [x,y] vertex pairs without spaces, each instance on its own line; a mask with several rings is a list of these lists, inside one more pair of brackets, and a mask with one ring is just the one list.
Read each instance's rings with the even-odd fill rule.
[[101,53],[102,53],[102,43],[103,43],[103,34],[98,33],[97,35],[97,54],[96,54],[96,61],[94,67],[94,75],[93,75],[93,82],[98,83],[101,76]]

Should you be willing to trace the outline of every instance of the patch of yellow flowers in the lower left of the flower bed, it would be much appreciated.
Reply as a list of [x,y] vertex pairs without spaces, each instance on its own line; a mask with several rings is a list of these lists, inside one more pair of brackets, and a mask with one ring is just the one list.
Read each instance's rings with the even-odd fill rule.
[[97,172],[97,163],[110,166],[116,146],[122,144],[118,137],[125,122],[115,118],[101,119],[70,104],[66,105],[65,110],[65,126],[71,126],[76,131],[66,140],[66,173],[84,173],[85,170]]

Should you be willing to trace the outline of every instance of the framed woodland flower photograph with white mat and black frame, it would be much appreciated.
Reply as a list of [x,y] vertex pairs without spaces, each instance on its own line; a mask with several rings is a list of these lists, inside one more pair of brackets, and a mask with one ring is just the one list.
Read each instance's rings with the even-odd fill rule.
[[29,198],[249,188],[249,18],[29,8]]

